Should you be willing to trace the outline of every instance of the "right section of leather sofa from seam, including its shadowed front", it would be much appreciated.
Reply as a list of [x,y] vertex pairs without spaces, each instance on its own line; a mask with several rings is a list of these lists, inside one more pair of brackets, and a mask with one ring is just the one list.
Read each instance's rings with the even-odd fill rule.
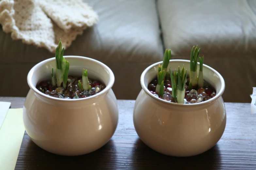
[[[189,60],[198,45],[204,64],[224,78],[225,102],[251,102],[256,87],[256,1],[158,0],[164,48]],[[189,69],[189,68],[187,68]]]

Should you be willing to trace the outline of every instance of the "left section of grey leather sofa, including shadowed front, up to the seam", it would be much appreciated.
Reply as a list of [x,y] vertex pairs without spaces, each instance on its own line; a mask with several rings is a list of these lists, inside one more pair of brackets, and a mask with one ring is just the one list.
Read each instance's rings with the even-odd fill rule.
[[[107,64],[115,75],[113,91],[118,99],[136,99],[142,71],[163,58],[163,46],[155,0],[85,0],[99,15],[99,22],[78,36],[64,55],[90,57]],[[0,72],[8,69],[0,96],[25,96],[30,68],[54,57],[46,49],[13,41],[0,29]],[[19,73],[20,88],[8,81]],[[132,91],[132,92],[131,92]]]

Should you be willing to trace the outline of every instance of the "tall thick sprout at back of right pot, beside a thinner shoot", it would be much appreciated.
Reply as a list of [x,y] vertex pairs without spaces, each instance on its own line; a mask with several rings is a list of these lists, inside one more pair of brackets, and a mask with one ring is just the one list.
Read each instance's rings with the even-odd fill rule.
[[[192,47],[190,54],[190,72],[189,72],[189,80],[191,82],[192,87],[197,87],[198,77],[197,77],[197,60],[200,52],[200,48],[196,46],[195,50]],[[193,51],[194,50],[194,51]]]

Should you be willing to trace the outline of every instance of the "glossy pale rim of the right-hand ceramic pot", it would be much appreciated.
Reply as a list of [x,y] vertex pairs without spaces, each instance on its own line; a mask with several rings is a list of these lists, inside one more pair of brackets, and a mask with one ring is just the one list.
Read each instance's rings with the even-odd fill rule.
[[[169,63],[170,63],[170,62],[185,62],[185,63],[190,63],[190,60],[171,59],[171,60],[169,60]],[[152,97],[152,99],[154,99],[154,100],[157,100],[157,101],[159,101],[159,102],[161,102],[161,103],[168,104],[168,105],[170,105],[170,106],[184,106],[184,107],[198,106],[198,105],[202,106],[202,105],[207,105],[207,104],[209,104],[209,103],[214,102],[217,98],[219,98],[219,97],[223,94],[223,92],[224,92],[224,90],[225,90],[225,81],[224,81],[224,78],[221,76],[221,74],[219,74],[219,73],[218,73],[215,69],[213,69],[212,67],[203,64],[203,67],[206,67],[206,68],[210,69],[211,71],[213,71],[213,72],[219,77],[219,79],[220,79],[221,88],[220,88],[219,92],[216,94],[216,96],[214,96],[213,98],[211,98],[211,99],[209,99],[209,100],[207,100],[207,101],[200,102],[200,103],[192,103],[192,104],[173,103],[173,102],[168,102],[168,101],[166,101],[166,100],[160,99],[159,97],[154,96],[154,95],[148,90],[148,88],[145,86],[144,77],[145,77],[146,73],[147,73],[152,67],[157,66],[157,65],[162,64],[162,63],[163,63],[163,61],[158,62],[158,63],[154,63],[154,64],[148,66],[148,67],[142,72],[141,77],[140,77],[140,85],[141,85],[142,89],[144,90],[144,92],[146,92],[146,94],[148,94],[148,95],[149,95],[150,97]],[[199,62],[198,62],[198,64],[199,64]]]

